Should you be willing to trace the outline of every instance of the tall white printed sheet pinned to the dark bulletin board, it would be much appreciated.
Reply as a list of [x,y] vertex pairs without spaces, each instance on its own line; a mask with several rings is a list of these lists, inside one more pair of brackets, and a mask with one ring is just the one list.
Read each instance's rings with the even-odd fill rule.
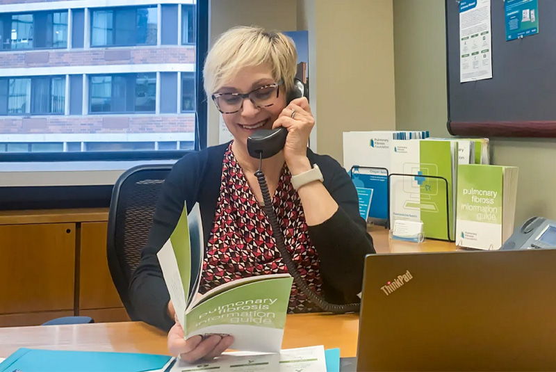
[[492,79],[491,0],[459,1],[459,82]]

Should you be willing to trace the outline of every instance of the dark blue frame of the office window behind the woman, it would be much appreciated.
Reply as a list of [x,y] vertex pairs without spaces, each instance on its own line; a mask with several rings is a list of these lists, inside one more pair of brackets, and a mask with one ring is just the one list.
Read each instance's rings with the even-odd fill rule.
[[[179,15],[181,17],[181,15]],[[208,0],[197,0],[197,12],[195,14],[196,24],[196,53],[195,65],[203,66],[208,51]],[[71,32],[71,31],[68,31]],[[91,47],[91,49],[94,49]],[[9,50],[9,49],[8,49]],[[193,150],[155,150],[135,152],[29,152],[29,153],[1,153],[0,162],[51,162],[51,161],[142,161],[142,160],[172,160],[179,159],[189,152],[199,151],[207,146],[208,110],[207,101],[202,84],[202,68],[195,69],[196,81],[196,125],[195,125],[195,147]],[[181,102],[181,100],[180,100]],[[179,112],[179,111],[178,111]],[[126,113],[127,114],[127,113]],[[3,200],[0,197],[0,205]],[[1,196],[1,193],[0,193]]]

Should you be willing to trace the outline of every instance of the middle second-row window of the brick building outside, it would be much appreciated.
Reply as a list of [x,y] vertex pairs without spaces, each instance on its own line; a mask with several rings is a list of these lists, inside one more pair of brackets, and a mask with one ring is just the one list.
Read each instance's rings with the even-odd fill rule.
[[90,76],[91,113],[154,113],[156,73]]

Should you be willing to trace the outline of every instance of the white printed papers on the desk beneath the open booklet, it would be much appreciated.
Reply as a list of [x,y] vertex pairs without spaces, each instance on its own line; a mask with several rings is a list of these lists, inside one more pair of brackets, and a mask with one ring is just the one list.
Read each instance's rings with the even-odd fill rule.
[[322,372],[326,371],[324,346],[281,350],[279,354],[231,352],[224,353],[213,362],[188,364],[178,359],[170,372]]

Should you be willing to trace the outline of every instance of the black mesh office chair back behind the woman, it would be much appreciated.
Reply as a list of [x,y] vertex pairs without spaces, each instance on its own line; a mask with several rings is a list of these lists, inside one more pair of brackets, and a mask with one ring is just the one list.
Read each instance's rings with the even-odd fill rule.
[[129,318],[139,320],[129,283],[147,244],[158,195],[172,165],[138,165],[116,181],[108,212],[106,256],[112,280]]

